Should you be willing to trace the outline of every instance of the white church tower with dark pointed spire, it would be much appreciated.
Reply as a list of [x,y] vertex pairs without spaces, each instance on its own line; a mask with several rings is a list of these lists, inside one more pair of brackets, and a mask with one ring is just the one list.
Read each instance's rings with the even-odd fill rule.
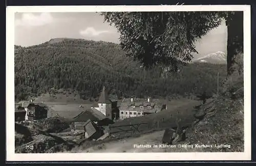
[[103,86],[103,90],[99,96],[98,100],[99,111],[104,114],[107,118],[112,119],[111,113],[111,100],[109,99],[109,95],[105,90],[105,86]]

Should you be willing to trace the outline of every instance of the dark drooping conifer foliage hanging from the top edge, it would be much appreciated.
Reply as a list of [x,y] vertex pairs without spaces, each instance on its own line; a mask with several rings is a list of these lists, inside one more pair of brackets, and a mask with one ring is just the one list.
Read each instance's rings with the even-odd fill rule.
[[178,71],[197,52],[195,41],[221,24],[218,12],[102,12],[120,33],[121,48],[146,68]]

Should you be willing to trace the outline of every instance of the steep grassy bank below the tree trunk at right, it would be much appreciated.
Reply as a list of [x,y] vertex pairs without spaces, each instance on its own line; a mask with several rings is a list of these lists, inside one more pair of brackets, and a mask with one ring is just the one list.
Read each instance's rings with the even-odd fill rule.
[[230,145],[230,148],[203,148],[204,152],[244,151],[243,55],[239,58],[235,72],[227,78],[220,94],[201,106],[197,116],[203,118],[188,130],[187,144]]

